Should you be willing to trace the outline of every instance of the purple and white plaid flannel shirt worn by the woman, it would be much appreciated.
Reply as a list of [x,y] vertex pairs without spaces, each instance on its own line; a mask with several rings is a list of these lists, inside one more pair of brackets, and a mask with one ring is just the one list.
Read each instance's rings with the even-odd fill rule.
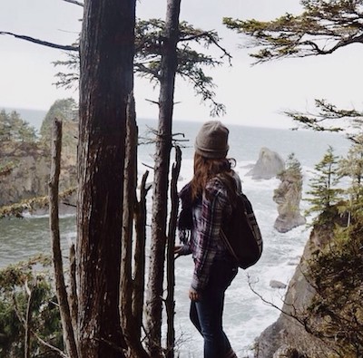
[[201,291],[208,283],[211,264],[227,254],[220,237],[223,221],[231,215],[231,203],[220,179],[211,179],[201,200],[192,209],[193,228],[189,251],[194,259],[191,288]]

